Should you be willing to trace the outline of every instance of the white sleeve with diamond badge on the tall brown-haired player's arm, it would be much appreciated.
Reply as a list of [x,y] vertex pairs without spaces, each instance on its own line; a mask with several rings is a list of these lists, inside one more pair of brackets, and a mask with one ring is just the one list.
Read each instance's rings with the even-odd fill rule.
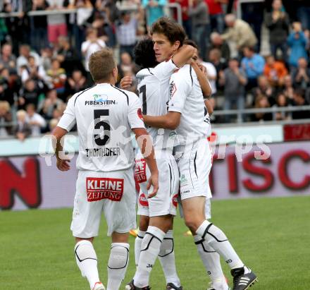
[[182,114],[186,97],[190,95],[192,85],[182,78],[181,73],[174,73],[169,82],[168,111],[178,111]]

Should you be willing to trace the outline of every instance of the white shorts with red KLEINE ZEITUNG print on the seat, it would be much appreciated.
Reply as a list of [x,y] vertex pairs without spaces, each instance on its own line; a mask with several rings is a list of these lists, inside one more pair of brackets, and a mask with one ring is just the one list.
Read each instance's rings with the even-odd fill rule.
[[136,228],[136,191],[133,168],[124,171],[79,171],[71,231],[78,238],[98,236],[101,212],[113,231],[127,233]]

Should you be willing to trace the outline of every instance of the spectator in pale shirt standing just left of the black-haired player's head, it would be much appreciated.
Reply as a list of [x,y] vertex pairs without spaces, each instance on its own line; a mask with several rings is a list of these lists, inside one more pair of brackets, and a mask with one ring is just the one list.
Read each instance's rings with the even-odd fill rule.
[[133,49],[137,42],[137,19],[128,11],[122,12],[121,20],[116,24],[116,37],[120,44],[120,54],[128,52],[133,58]]

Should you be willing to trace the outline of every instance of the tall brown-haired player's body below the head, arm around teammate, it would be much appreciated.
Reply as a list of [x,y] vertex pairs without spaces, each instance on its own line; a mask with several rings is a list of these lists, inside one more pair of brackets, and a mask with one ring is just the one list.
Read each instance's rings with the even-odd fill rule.
[[[193,62],[192,66],[197,64]],[[218,256],[206,255],[215,251],[230,265],[233,290],[244,290],[254,284],[256,275],[244,266],[223,231],[208,221],[211,217],[209,172],[212,152],[207,140],[210,125],[204,116],[202,89],[192,66],[183,66],[171,76],[168,113],[145,116],[144,121],[149,126],[177,131],[180,145],[175,147],[175,159],[180,171],[183,215],[206,270],[211,272],[209,289],[229,289]]]

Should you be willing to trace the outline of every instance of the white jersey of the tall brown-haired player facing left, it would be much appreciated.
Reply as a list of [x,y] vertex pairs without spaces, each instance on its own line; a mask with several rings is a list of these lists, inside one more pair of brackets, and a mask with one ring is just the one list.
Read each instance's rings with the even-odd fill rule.
[[181,113],[176,129],[180,145],[193,143],[210,134],[210,119],[204,105],[202,89],[190,65],[185,65],[171,75],[168,111]]

